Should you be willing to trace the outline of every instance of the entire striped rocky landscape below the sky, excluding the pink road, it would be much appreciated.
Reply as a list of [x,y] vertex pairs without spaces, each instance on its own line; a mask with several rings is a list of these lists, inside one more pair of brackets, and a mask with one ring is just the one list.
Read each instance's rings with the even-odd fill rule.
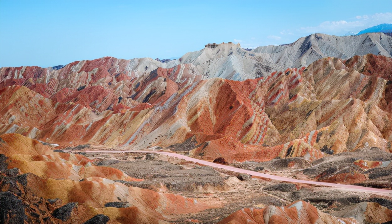
[[391,221],[392,37],[334,38],[0,68],[0,224]]

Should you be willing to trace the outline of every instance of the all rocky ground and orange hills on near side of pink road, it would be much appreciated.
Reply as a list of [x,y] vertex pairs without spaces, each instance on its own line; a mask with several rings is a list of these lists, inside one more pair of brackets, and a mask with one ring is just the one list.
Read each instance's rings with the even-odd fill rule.
[[[53,151],[19,134],[1,135],[0,222],[377,223],[391,218],[392,200],[382,195],[223,174],[154,153],[84,155]],[[241,206],[251,208],[236,211]]]

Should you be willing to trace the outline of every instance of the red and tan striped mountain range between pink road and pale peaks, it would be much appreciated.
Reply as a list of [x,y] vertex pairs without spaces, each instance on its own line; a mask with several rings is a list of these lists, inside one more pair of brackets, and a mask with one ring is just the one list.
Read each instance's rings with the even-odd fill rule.
[[392,152],[389,57],[326,57],[245,81],[204,79],[191,64],[143,65],[105,57],[60,70],[1,68],[0,133],[61,147],[159,146],[228,163]]

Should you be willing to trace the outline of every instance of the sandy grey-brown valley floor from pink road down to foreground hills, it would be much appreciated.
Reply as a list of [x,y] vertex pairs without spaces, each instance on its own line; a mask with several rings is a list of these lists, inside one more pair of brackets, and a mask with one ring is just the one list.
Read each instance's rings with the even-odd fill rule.
[[[81,153],[94,159],[97,165],[115,167],[130,176],[145,179],[138,187],[221,204],[221,208],[173,215],[170,217],[172,223],[216,223],[242,208],[282,206],[297,200],[309,201],[326,213],[334,213],[363,201],[378,202],[392,209],[391,191],[385,189],[361,186],[353,188],[352,185],[290,179],[170,152],[84,151]],[[248,173],[252,177],[241,181],[237,177],[241,173]],[[136,183],[126,184],[136,185]]]

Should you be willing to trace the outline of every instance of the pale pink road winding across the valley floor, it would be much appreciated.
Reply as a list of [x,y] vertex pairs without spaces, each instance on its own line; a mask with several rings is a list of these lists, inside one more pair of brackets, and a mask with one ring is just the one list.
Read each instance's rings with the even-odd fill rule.
[[[74,152],[74,151],[73,151]],[[238,172],[238,173],[244,173],[244,174],[249,174],[252,176],[256,177],[263,177],[263,178],[269,178],[269,179],[274,179],[278,181],[287,181],[287,182],[293,182],[293,183],[303,183],[303,184],[309,184],[309,185],[320,185],[320,186],[329,186],[329,187],[336,187],[341,190],[347,190],[347,191],[354,191],[354,192],[368,192],[372,194],[381,194],[381,195],[387,195],[387,196],[392,196],[392,190],[387,190],[387,189],[379,189],[379,188],[371,188],[371,187],[364,187],[364,186],[356,186],[356,185],[343,185],[343,184],[336,184],[336,183],[328,183],[328,182],[319,182],[319,181],[307,181],[307,180],[301,180],[301,179],[292,179],[289,177],[281,177],[281,176],[275,176],[271,174],[263,174],[260,172],[252,171],[252,170],[245,170],[237,167],[232,167],[230,165],[223,165],[219,163],[213,163],[201,159],[196,159],[192,158],[189,156],[177,154],[174,152],[163,152],[163,151],[131,151],[131,150],[93,150],[93,151],[79,151],[79,152],[100,152],[100,153],[157,153],[157,154],[162,154],[166,156],[171,156],[175,158],[180,158],[184,159],[186,161],[191,161],[194,163],[200,163],[202,165],[210,166],[210,167],[215,167],[215,168],[221,168],[225,170],[230,170],[233,172]]]

